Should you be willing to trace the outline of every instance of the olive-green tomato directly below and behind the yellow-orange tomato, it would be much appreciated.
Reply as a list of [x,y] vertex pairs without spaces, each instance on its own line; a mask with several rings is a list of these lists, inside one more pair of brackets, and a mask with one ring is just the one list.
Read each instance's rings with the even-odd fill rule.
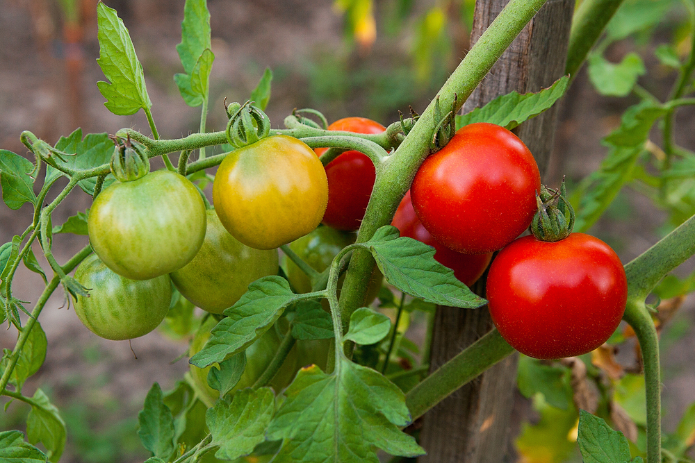
[[277,275],[277,249],[253,249],[238,242],[207,211],[205,240],[195,258],[170,277],[179,292],[199,308],[221,314],[246,292],[250,283]]

